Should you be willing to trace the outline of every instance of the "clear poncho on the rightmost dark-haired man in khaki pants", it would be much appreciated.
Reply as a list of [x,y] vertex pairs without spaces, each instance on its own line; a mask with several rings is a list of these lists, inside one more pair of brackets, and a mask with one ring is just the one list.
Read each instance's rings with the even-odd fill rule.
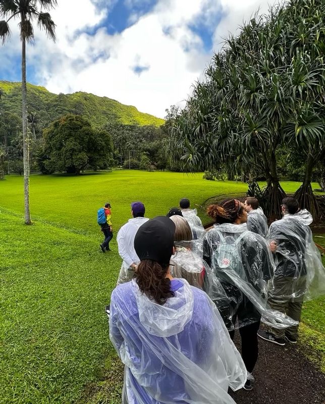
[[269,282],[269,298],[286,302],[325,294],[325,269],[312,239],[311,222],[304,209],[270,225],[267,240],[276,243],[276,270]]

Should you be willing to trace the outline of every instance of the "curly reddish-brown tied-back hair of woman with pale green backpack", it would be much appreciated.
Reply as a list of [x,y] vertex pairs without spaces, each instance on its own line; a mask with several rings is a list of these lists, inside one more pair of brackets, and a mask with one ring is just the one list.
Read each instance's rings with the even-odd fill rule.
[[215,223],[234,223],[243,214],[244,208],[238,199],[225,199],[220,205],[208,206],[207,215],[215,220]]

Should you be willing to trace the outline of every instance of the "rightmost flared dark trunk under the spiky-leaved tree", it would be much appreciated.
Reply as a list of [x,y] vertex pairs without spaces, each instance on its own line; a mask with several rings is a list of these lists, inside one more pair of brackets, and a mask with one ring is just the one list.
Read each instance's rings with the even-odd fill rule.
[[301,209],[307,209],[314,220],[318,220],[320,218],[319,206],[311,187],[311,175],[315,163],[313,155],[308,153],[304,180],[295,192],[294,197],[298,200]]

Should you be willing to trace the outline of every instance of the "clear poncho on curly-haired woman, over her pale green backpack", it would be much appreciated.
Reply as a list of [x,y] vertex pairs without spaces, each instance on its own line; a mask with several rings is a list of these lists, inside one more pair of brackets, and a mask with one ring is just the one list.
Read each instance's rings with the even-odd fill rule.
[[230,299],[227,310],[217,306],[229,330],[259,320],[275,328],[298,324],[267,305],[273,258],[265,239],[247,230],[246,223],[214,225],[203,239],[203,248],[204,260]]

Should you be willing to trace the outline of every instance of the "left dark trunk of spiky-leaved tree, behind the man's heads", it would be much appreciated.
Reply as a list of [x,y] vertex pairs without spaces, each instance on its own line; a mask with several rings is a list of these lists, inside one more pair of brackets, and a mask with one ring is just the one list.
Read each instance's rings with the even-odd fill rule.
[[286,197],[285,191],[280,185],[280,181],[277,175],[277,160],[274,150],[270,151],[269,156],[263,155],[264,159],[267,159],[264,163],[266,183],[267,186],[263,192],[265,216],[271,221],[275,219],[281,219],[281,204],[282,199]]

